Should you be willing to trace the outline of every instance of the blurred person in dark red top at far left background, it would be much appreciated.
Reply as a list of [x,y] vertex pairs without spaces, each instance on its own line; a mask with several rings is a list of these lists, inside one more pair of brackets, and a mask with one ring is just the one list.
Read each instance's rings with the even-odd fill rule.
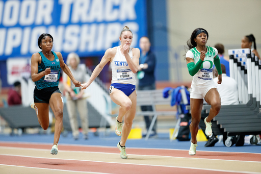
[[21,97],[21,83],[15,82],[14,88],[8,92],[8,105],[21,105],[22,97]]

